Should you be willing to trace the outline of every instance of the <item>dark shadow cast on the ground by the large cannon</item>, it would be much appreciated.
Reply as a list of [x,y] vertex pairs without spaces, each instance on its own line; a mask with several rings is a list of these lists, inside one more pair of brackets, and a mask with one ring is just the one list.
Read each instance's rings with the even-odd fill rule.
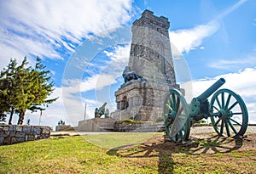
[[[229,145],[226,145],[229,144]],[[108,150],[108,155],[123,158],[158,158],[159,173],[173,173],[175,161],[172,154],[188,155],[229,153],[240,149],[242,139],[213,136],[211,138],[191,138],[187,143],[173,143],[165,136],[156,136],[146,143],[128,145]]]

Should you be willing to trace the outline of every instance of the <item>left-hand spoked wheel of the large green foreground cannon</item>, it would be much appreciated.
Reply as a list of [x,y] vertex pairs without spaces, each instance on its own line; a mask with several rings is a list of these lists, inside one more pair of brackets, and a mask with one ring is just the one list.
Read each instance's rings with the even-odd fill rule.
[[171,89],[169,93],[166,93],[163,115],[166,133],[171,140],[173,142],[188,140],[190,132],[189,105],[177,90]]

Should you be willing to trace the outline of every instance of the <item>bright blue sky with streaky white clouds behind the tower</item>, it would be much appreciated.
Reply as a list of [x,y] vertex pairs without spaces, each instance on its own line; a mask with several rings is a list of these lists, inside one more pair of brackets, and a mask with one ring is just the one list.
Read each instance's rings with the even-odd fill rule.
[[[39,56],[52,71],[52,97],[59,99],[44,111],[41,124],[55,126],[62,119],[76,125],[84,118],[84,103],[87,118],[104,101],[113,110],[129,58],[129,30],[144,9],[171,22],[179,80],[183,66],[189,70],[189,87],[183,84],[191,93],[188,102],[224,77],[224,87],[244,98],[249,121],[256,122],[254,0],[1,1],[0,68],[26,55],[31,64]],[[38,115],[27,112],[26,119],[38,124]]]

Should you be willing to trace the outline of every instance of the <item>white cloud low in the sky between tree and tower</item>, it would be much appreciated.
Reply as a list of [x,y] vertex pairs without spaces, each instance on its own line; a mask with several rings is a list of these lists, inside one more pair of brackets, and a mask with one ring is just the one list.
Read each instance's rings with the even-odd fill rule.
[[[93,76],[84,79],[68,79],[63,82],[62,87],[55,87],[54,93],[49,98],[58,97],[58,99],[44,110],[40,124],[55,127],[58,121],[62,120],[67,125],[77,126],[79,121],[84,120],[84,104],[87,104],[86,119],[93,118],[95,108],[105,102],[103,97],[110,98],[110,95],[113,95],[109,89],[121,76],[128,62],[129,51],[130,44],[115,46],[113,52],[104,51],[109,59],[105,61],[103,68],[99,68]],[[92,99],[82,94],[90,91],[95,93]],[[109,107],[112,106],[112,103],[113,101],[108,101],[108,109],[111,109]],[[27,111],[25,123],[30,119],[32,125],[38,125],[39,116],[39,112]],[[13,122],[16,121],[15,117]]]

